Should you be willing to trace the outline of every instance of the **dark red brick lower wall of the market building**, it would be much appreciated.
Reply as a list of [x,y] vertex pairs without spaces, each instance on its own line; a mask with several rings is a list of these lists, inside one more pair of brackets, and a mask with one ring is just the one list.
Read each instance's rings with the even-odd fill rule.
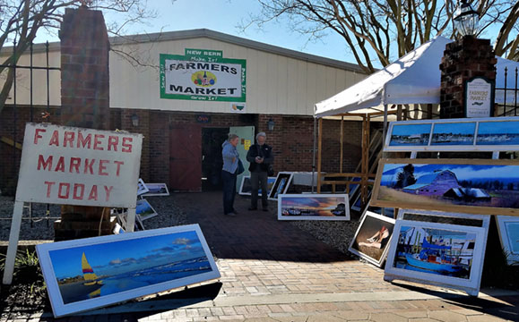
[[[34,122],[43,122],[41,113],[45,108],[34,108]],[[53,108],[47,121],[60,123],[60,110]],[[139,125],[132,124],[132,115],[139,117]],[[254,125],[256,133],[264,131],[267,143],[274,152],[276,171],[312,171],[314,146],[314,119],[309,116],[284,116],[269,114],[208,114],[211,123],[196,123],[197,113],[176,113],[134,109],[110,109],[111,130],[125,130],[142,133],[143,151],[141,157],[141,177],[145,182],[169,181],[169,127],[185,124],[207,128],[229,128],[229,126]],[[268,131],[267,122],[274,121],[274,130]],[[30,108],[20,107],[17,113],[16,138],[23,141],[25,123],[30,120]],[[13,108],[6,106],[0,117],[0,135],[13,138]],[[344,122],[343,171],[355,170],[360,160],[361,122]],[[323,166],[324,172],[338,172],[340,160],[339,121],[323,122]],[[20,164],[20,151],[13,158],[13,148],[0,143],[0,190],[13,194],[16,187]],[[13,162],[15,166],[13,167]],[[14,172],[14,174],[13,174]]]

